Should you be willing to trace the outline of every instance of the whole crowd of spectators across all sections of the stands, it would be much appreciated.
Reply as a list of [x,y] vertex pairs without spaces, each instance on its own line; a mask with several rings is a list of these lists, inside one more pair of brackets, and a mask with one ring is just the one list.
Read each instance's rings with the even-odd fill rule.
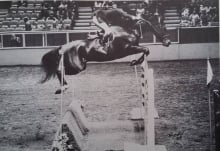
[[[0,27],[7,30],[62,30],[73,29],[78,16],[78,3],[66,1],[12,1],[9,13],[0,18]],[[93,11],[100,7],[121,8],[137,18],[149,18],[163,23],[164,7],[162,3],[144,2],[132,3],[112,0],[95,1]],[[218,20],[217,4],[205,0],[195,0],[194,3],[185,3],[181,8],[181,26],[208,26]]]

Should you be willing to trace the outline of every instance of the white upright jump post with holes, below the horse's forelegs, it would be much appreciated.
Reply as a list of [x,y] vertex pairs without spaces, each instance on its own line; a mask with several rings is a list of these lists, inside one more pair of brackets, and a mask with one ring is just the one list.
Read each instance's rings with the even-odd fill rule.
[[[154,74],[153,69],[148,68],[147,57],[145,57],[142,63],[142,96],[144,98],[144,145],[135,143],[125,143],[124,151],[166,151],[166,147],[163,145],[155,145],[155,106],[154,106]],[[142,113],[142,112],[139,112]],[[139,116],[139,117],[140,117]],[[138,117],[138,116],[136,116]]]

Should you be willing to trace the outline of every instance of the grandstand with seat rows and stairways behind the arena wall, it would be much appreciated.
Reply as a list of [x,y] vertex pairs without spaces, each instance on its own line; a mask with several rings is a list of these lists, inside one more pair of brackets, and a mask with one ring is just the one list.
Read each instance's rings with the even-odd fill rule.
[[[128,8],[129,13],[135,15],[135,11],[138,8],[139,3],[144,1],[115,1],[119,8]],[[0,2],[3,3],[3,2]],[[183,11],[189,9],[189,14],[192,13],[192,9],[196,9],[197,13],[200,13],[200,5],[204,5],[204,9],[207,10],[210,20],[209,25],[218,26],[218,5],[215,1],[199,1],[190,3],[188,0],[176,2],[172,1],[152,1],[150,4],[144,3],[145,11],[149,10],[151,14],[161,18],[160,21],[167,28],[183,26]],[[64,4],[56,1],[8,1],[8,4],[3,9],[0,9],[0,31],[25,31],[26,22],[24,18],[28,19],[28,23],[31,24],[31,30],[91,30],[97,29],[91,22],[94,7],[94,2],[84,1],[67,1]],[[63,7],[62,7],[63,6]],[[125,10],[125,9],[124,9]],[[64,13],[62,13],[64,12]],[[71,16],[73,14],[74,17]],[[54,16],[55,19],[47,19],[49,16]],[[215,18],[213,19],[213,16]],[[185,21],[185,20],[184,20]],[[190,26],[190,19],[187,19]]]

